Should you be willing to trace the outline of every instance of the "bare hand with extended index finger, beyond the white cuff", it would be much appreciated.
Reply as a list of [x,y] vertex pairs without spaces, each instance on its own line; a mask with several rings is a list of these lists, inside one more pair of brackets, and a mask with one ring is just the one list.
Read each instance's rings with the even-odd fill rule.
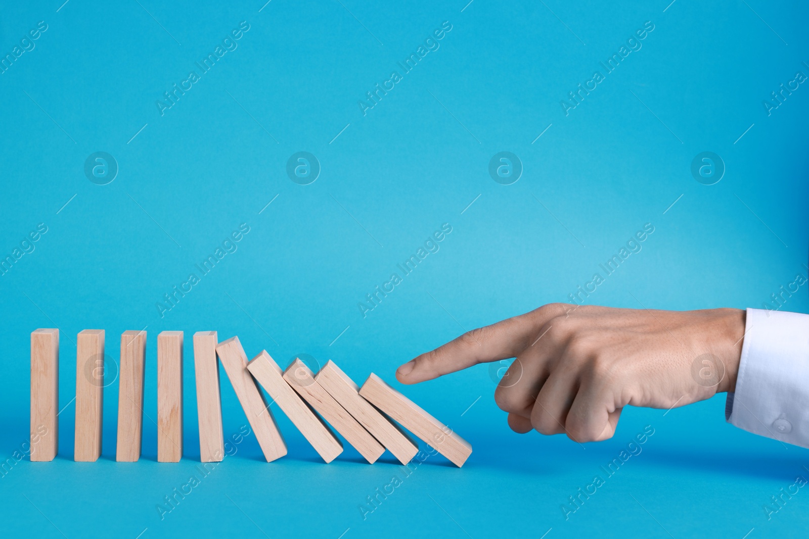
[[606,440],[626,405],[668,409],[733,391],[745,311],[543,305],[403,364],[404,384],[515,357],[494,392],[515,432]]

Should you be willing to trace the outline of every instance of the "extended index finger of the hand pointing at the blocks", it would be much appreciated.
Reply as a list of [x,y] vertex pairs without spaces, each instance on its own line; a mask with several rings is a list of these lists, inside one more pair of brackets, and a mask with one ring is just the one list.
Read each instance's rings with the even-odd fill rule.
[[538,329],[563,312],[561,304],[543,305],[530,313],[467,331],[401,365],[396,378],[403,384],[416,384],[479,363],[516,357],[531,344]]

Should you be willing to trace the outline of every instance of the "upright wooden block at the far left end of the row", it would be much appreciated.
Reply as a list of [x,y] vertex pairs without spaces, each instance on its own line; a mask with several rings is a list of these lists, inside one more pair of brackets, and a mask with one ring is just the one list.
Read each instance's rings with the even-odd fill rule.
[[59,330],[31,333],[31,460],[59,451]]

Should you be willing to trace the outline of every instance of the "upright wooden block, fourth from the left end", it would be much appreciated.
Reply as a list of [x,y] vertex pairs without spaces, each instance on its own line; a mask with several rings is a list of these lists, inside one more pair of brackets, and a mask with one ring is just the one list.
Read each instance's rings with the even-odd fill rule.
[[183,457],[183,332],[157,336],[157,461]]

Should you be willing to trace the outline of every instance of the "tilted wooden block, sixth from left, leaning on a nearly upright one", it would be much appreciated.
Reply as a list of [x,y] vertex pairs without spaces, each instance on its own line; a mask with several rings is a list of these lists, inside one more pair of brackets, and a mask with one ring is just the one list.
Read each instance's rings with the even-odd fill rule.
[[278,431],[273,413],[269,411],[264,394],[258,389],[256,381],[248,371],[248,356],[244,354],[239,337],[231,337],[219,343],[216,353],[222,361],[227,377],[231,380],[244,414],[248,416],[248,422],[256,433],[256,440],[264,452],[264,457],[268,462],[283,457],[286,455],[286,443]]

